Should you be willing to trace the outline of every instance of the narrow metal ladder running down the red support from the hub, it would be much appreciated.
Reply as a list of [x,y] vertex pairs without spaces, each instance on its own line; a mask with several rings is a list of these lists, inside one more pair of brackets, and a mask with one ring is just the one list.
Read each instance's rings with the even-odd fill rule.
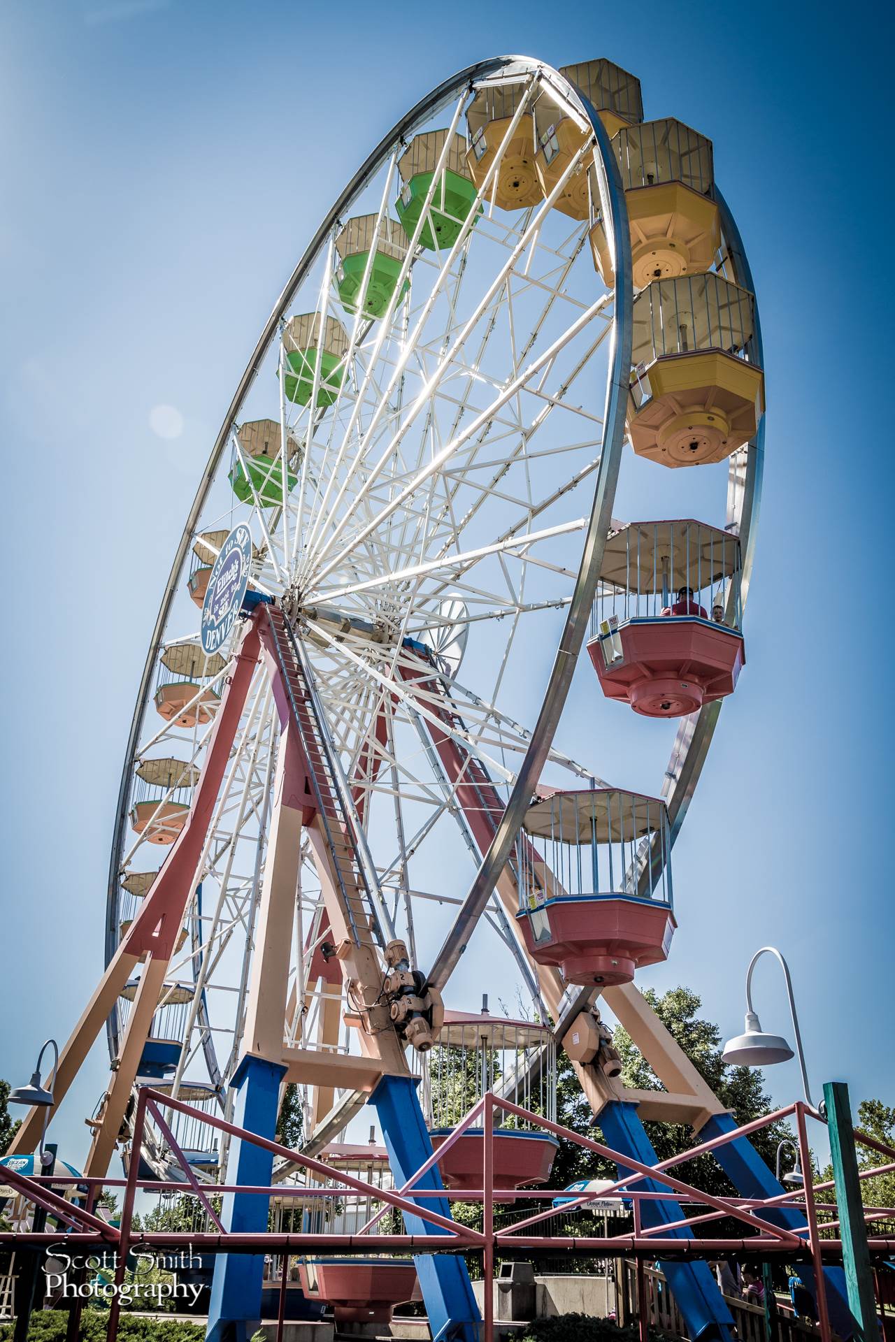
[[288,696],[291,715],[298,729],[305,757],[310,766],[310,782],[317,811],[323,825],[326,843],[333,859],[338,890],[352,939],[356,946],[384,946],[392,938],[382,926],[370,890],[369,872],[361,852],[361,840],[349,819],[350,797],[322,721],[310,667],[305,663],[298,640],[279,607],[266,605],[274,636],[276,660]]

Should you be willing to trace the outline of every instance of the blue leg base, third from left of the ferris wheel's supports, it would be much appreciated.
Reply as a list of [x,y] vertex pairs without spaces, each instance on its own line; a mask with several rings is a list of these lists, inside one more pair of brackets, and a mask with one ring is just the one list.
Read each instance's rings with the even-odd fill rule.
[[[659,1157],[637,1118],[636,1104],[612,1100],[601,1110],[597,1122],[607,1143],[615,1150],[631,1155],[643,1165],[657,1162]],[[619,1176],[625,1173],[629,1172],[620,1165]],[[656,1193],[663,1190],[663,1185],[655,1180],[643,1180],[632,1186]],[[644,1227],[670,1225],[672,1221],[683,1220],[683,1216],[680,1204],[671,1197],[668,1201],[649,1200],[640,1204],[640,1221]],[[670,1231],[668,1235],[674,1239],[692,1239],[692,1232],[683,1227]],[[734,1321],[708,1264],[670,1260],[662,1263],[662,1270],[694,1342],[696,1338],[700,1338],[702,1342],[729,1342],[734,1331]]]

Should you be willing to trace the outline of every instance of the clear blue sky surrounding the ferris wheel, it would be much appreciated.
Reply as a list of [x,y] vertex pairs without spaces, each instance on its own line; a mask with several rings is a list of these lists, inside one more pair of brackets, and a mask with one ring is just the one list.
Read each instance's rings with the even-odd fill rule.
[[[687,898],[672,958],[644,981],[688,984],[735,1033],[749,956],[773,942],[793,969],[813,1084],[845,1079],[855,1102],[895,1103],[891,74],[879,23],[768,0],[13,0],[0,48],[0,1075],[27,1079],[101,973],[146,643],[276,294],[401,113],[454,70],[513,51],[553,64],[605,55],[640,76],[647,115],[713,138],[762,310],[749,666],[675,849],[682,909]],[[769,962],[757,1002],[789,1033]],[[86,1150],[81,1119],[106,1074],[103,1040],[54,1125],[68,1158]],[[792,1098],[794,1064],[768,1082]]]

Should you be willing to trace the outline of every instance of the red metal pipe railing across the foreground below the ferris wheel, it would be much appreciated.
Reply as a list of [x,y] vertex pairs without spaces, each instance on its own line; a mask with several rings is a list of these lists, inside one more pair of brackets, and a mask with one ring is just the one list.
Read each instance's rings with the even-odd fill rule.
[[[239,1137],[243,1141],[260,1146],[262,1149],[268,1150],[272,1155],[286,1157],[295,1166],[298,1166],[299,1170],[307,1170],[309,1173],[322,1176],[329,1181],[330,1186],[321,1188],[314,1185],[313,1190],[309,1190],[306,1185],[302,1186],[291,1184],[250,1188],[229,1184],[201,1185],[196,1180],[187,1157],[180,1149],[170,1126],[162,1114],[162,1108],[193,1117],[201,1123],[217,1129],[221,1133],[228,1133],[231,1137]],[[631,1200],[633,1210],[633,1231],[602,1236],[531,1233],[533,1229],[542,1227],[546,1220],[556,1216],[556,1209],[551,1205],[546,1209],[541,1208],[533,1212],[530,1216],[526,1216],[523,1220],[515,1223],[507,1229],[496,1229],[494,1224],[494,1210],[496,1204],[521,1202],[526,1198],[543,1201],[553,1200],[553,1197],[557,1196],[568,1197],[568,1194],[564,1189],[494,1188],[495,1108],[502,1110],[509,1115],[526,1119],[533,1126],[541,1127],[546,1133],[551,1133],[556,1137],[573,1142],[584,1150],[592,1151],[594,1155],[601,1155],[605,1159],[615,1162],[619,1169],[624,1170],[625,1173],[623,1173],[613,1184],[601,1190],[600,1197],[621,1196]],[[290,1255],[333,1251],[338,1251],[342,1255],[357,1253],[358,1256],[373,1252],[393,1252],[403,1255],[407,1255],[408,1252],[456,1252],[458,1249],[462,1249],[463,1252],[480,1252],[484,1270],[484,1339],[486,1342],[491,1342],[494,1330],[494,1260],[495,1255],[499,1252],[515,1253],[519,1249],[526,1248],[550,1248],[554,1251],[561,1249],[566,1253],[585,1256],[600,1253],[602,1256],[612,1257],[635,1257],[639,1264],[643,1264],[645,1259],[653,1260],[660,1257],[663,1253],[674,1255],[676,1257],[729,1257],[742,1253],[757,1257],[802,1257],[808,1255],[812,1260],[817,1280],[823,1280],[824,1263],[837,1261],[841,1259],[841,1240],[829,1236],[831,1231],[839,1228],[839,1220],[835,1216],[836,1206],[835,1204],[819,1202],[816,1200],[817,1193],[832,1188],[829,1181],[816,1184],[810,1188],[794,1186],[769,1198],[745,1198],[738,1196],[717,1197],[671,1173],[675,1166],[686,1161],[692,1161],[696,1155],[714,1151],[719,1146],[733,1142],[739,1137],[747,1137],[780,1119],[794,1118],[800,1164],[801,1169],[808,1174],[812,1165],[806,1121],[809,1118],[819,1119],[819,1117],[820,1115],[814,1110],[801,1100],[797,1100],[784,1108],[774,1110],[774,1113],[768,1114],[764,1118],[745,1123],[722,1137],[713,1138],[707,1142],[699,1142],[698,1145],[691,1146],[686,1151],[670,1157],[668,1159],[657,1161],[655,1165],[644,1165],[623,1151],[616,1151],[593,1138],[584,1137],[580,1133],[573,1133],[561,1123],[553,1123],[539,1114],[533,1114],[518,1104],[513,1104],[507,1099],[501,1099],[499,1096],[488,1092],[478,1100],[476,1104],[474,1104],[468,1114],[464,1115],[454,1131],[445,1138],[437,1153],[432,1154],[407,1184],[404,1184],[400,1189],[384,1189],[356,1178],[345,1170],[327,1165],[325,1161],[303,1155],[301,1151],[290,1150],[280,1142],[270,1141],[268,1138],[259,1137],[256,1133],[240,1129],[235,1123],[229,1123],[215,1114],[205,1114],[184,1100],[173,1099],[169,1095],[144,1087],[140,1091],[137,1111],[134,1115],[131,1147],[134,1155],[130,1161],[126,1180],[76,1178],[74,1176],[63,1177],[55,1174],[32,1178],[9,1169],[3,1170],[3,1178],[36,1206],[44,1208],[50,1216],[70,1228],[64,1239],[66,1245],[71,1249],[87,1249],[101,1245],[113,1247],[117,1252],[117,1288],[119,1288],[123,1283],[127,1252],[136,1239],[138,1239],[141,1247],[157,1249],[189,1248],[203,1253],[270,1253],[278,1256],[283,1266],[276,1330],[278,1342],[280,1342],[283,1331],[286,1287],[288,1280],[287,1264]],[[189,1192],[196,1197],[199,1205],[204,1209],[209,1224],[215,1227],[213,1231],[201,1231],[195,1233],[173,1231],[134,1232],[134,1201],[138,1190],[150,1193],[184,1193],[185,1190],[182,1182],[140,1180],[137,1177],[140,1168],[138,1153],[142,1147],[142,1137],[148,1118],[152,1119],[170,1146],[172,1153],[184,1172],[184,1177],[189,1185]],[[416,1182],[423,1177],[423,1174],[436,1165],[450,1147],[463,1135],[463,1133],[467,1131],[467,1129],[476,1123],[476,1121],[482,1125],[483,1188],[456,1193],[452,1192],[450,1193],[450,1197],[452,1201],[474,1201],[483,1204],[482,1231],[475,1231],[467,1225],[459,1225],[458,1223],[451,1221],[425,1206],[425,1198],[444,1197],[443,1192],[432,1189],[415,1189]],[[895,1150],[892,1147],[886,1146],[883,1142],[879,1142],[859,1130],[855,1131],[855,1139],[870,1150],[888,1157],[887,1162],[861,1170],[861,1178],[871,1178],[876,1174],[884,1174],[895,1170]],[[645,1178],[651,1180],[656,1185],[660,1185],[664,1192],[631,1188],[631,1184],[636,1184]],[[102,1188],[123,1186],[125,1193],[121,1225],[109,1225],[106,1221],[89,1212],[86,1206],[72,1204],[60,1197],[59,1193],[54,1192],[63,1185],[76,1185],[82,1196],[86,1193],[85,1200],[87,1206],[94,1205]],[[377,1212],[376,1216],[370,1217],[358,1232],[352,1235],[293,1231],[271,1231],[264,1233],[244,1235],[227,1231],[209,1201],[209,1193],[217,1196],[228,1192],[239,1192],[246,1196],[266,1197],[268,1200],[271,1197],[301,1200],[313,1196],[315,1201],[327,1197],[338,1198],[346,1193],[354,1193],[384,1205],[381,1210]],[[809,1193],[810,1196],[808,1196]],[[671,1225],[644,1229],[640,1224],[641,1204],[649,1200],[668,1200],[670,1196],[683,1206],[698,1206],[700,1209],[708,1208],[708,1210],[694,1212],[692,1216],[684,1216]],[[564,1204],[562,1210],[564,1213],[573,1212],[578,1208],[586,1206],[586,1204],[592,1200],[592,1193],[582,1193],[578,1197],[569,1198],[569,1201]],[[772,1221],[766,1220],[764,1215],[761,1215],[762,1212],[773,1210],[774,1208],[781,1206],[794,1208],[804,1213],[806,1223],[805,1228],[802,1231],[782,1228],[774,1225]],[[437,1227],[441,1233],[427,1236],[376,1233],[376,1225],[390,1209],[412,1212],[415,1216],[419,1216],[424,1221]],[[827,1213],[829,1212],[832,1212],[833,1216],[828,1216]],[[819,1219],[819,1213],[821,1213],[824,1219]],[[704,1229],[708,1223],[718,1221],[722,1217],[739,1221],[746,1233],[743,1233],[742,1237],[707,1237],[704,1233],[700,1233],[698,1237],[692,1239],[679,1239],[668,1235],[670,1231],[690,1229],[695,1227]],[[895,1220],[895,1208],[865,1208],[864,1219],[868,1224],[876,1220]],[[13,1243],[17,1248],[27,1248],[31,1245],[36,1249],[43,1245],[58,1244],[59,1232],[56,1231],[54,1233],[44,1231],[40,1233],[0,1233],[0,1245],[8,1243]],[[868,1247],[871,1253],[876,1257],[884,1255],[891,1256],[895,1252],[895,1236],[870,1235]],[[640,1282],[639,1294],[641,1294]],[[119,1308],[119,1294],[118,1290],[115,1290],[110,1302],[107,1329],[109,1342],[114,1342],[117,1337]],[[831,1342],[831,1327],[824,1291],[817,1291],[817,1308],[821,1342]],[[641,1329],[643,1327],[645,1327],[645,1323],[643,1322],[641,1315]]]

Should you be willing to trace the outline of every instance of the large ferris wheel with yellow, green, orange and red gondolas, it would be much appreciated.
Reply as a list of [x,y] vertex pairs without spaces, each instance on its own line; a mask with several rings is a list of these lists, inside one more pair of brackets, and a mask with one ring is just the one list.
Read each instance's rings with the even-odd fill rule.
[[[319,841],[297,831],[274,947],[288,1045],[350,1053],[385,1011],[401,1047],[425,1052],[476,927],[495,976],[558,1035],[594,992],[664,958],[671,847],[743,663],[762,412],[751,276],[711,142],[644,119],[633,75],[499,58],[401,118],[290,276],[187,513],[125,752],[109,965],[162,859],[205,819],[161,972],[148,986],[144,951],[103,998],[119,1078],[231,1104],[284,843],[288,722],[322,820]],[[628,507],[645,471],[670,502],[651,521]],[[717,494],[699,519],[696,475]],[[235,533],[250,596],[212,648],[203,611]],[[674,731],[643,792],[577,757],[585,733],[580,752],[557,743],[585,646],[594,715],[659,719],[666,749]],[[330,878],[393,985],[381,1001],[344,970]],[[649,926],[594,934],[590,910],[569,925],[562,900],[598,891],[655,903]],[[364,1099],[306,1083],[309,1149]],[[107,1102],[99,1165],[129,1141],[123,1099]],[[156,1137],[140,1155],[170,1172]],[[191,1161],[215,1181],[223,1158]]]

